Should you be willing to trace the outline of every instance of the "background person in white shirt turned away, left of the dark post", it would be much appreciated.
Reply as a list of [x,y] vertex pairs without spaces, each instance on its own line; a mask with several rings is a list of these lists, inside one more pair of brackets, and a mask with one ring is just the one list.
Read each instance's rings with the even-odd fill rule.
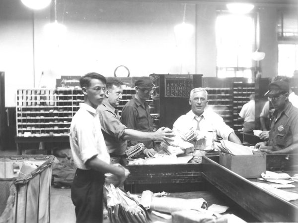
[[254,94],[249,96],[249,102],[244,104],[239,116],[244,120],[243,123],[243,133],[252,133],[255,128],[255,101],[254,101]]

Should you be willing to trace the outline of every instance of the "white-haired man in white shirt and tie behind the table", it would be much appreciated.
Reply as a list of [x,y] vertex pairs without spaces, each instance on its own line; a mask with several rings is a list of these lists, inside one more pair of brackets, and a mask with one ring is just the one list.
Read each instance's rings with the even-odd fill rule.
[[189,104],[191,111],[181,115],[173,124],[173,130],[183,133],[190,128],[203,132],[216,132],[217,135],[225,140],[241,144],[240,139],[234,133],[234,130],[224,123],[224,119],[207,109],[208,93],[204,88],[194,88],[190,92]]

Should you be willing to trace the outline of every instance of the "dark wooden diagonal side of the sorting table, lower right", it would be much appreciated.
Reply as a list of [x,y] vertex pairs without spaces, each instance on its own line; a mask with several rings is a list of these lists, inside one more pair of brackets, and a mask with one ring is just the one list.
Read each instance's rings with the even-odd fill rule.
[[[268,157],[271,160],[270,156]],[[282,162],[285,156],[273,158]],[[202,166],[204,179],[259,221],[298,222],[297,202],[288,202],[277,197],[207,157],[203,157]]]

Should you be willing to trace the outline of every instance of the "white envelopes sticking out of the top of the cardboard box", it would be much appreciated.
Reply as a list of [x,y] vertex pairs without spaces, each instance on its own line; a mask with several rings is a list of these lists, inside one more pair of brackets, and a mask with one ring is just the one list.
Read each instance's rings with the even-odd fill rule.
[[250,147],[242,146],[228,140],[220,140],[220,143],[214,142],[213,146],[217,151],[231,155],[253,155]]

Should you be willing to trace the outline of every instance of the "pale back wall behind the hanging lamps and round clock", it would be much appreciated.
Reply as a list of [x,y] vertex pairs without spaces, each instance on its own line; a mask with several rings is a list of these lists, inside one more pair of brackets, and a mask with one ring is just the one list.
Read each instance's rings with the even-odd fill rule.
[[[33,20],[32,11],[20,0],[0,1],[0,70],[5,72],[5,106],[15,106],[16,89],[43,85],[54,88],[55,79],[61,75],[90,71],[112,76],[118,65],[127,66],[131,76],[216,76],[217,5],[187,4],[185,22],[194,25],[195,33],[186,41],[175,36],[173,30],[183,20],[183,7],[179,2],[58,0],[57,18],[66,25],[67,33],[62,41],[53,42],[44,30],[53,21],[53,6],[35,12]],[[258,10],[260,49],[266,53],[261,61],[263,76],[274,76],[276,8]]]

